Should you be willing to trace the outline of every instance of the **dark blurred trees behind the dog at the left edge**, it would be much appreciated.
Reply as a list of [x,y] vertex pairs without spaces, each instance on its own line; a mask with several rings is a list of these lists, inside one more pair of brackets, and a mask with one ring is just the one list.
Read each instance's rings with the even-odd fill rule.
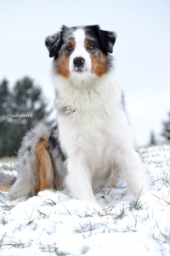
[[28,77],[9,90],[8,81],[0,83],[0,157],[18,152],[26,131],[48,116],[42,90]]

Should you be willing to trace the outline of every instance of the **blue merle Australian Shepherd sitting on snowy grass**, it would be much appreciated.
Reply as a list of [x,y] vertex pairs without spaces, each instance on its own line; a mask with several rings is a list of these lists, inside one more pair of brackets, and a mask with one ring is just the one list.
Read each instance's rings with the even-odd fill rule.
[[116,33],[99,26],[62,26],[46,38],[53,61],[57,125],[39,124],[24,137],[18,175],[1,173],[11,200],[42,189],[66,188],[97,206],[94,191],[126,178],[133,195],[150,189],[116,81],[112,51]]

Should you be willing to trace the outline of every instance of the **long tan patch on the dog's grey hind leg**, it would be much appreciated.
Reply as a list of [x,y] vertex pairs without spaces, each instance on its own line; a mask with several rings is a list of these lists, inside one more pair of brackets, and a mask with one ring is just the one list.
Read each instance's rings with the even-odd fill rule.
[[54,189],[54,166],[47,150],[48,139],[44,138],[37,143],[35,153],[37,155],[37,173],[39,177],[38,191]]

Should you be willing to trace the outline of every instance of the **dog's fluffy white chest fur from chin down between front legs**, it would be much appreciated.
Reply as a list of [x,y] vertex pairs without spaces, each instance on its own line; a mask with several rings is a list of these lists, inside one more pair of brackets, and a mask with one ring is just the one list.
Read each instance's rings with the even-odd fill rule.
[[122,91],[109,75],[93,87],[85,84],[74,89],[65,80],[57,84],[59,95],[55,103],[62,149],[67,157],[77,154],[88,162],[95,176],[109,172],[117,114],[122,112]]

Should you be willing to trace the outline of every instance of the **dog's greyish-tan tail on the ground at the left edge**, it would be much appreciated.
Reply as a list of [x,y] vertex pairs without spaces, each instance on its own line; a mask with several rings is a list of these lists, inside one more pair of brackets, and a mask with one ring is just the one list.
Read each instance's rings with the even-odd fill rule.
[[16,181],[16,177],[11,174],[0,172],[0,190],[8,191]]

